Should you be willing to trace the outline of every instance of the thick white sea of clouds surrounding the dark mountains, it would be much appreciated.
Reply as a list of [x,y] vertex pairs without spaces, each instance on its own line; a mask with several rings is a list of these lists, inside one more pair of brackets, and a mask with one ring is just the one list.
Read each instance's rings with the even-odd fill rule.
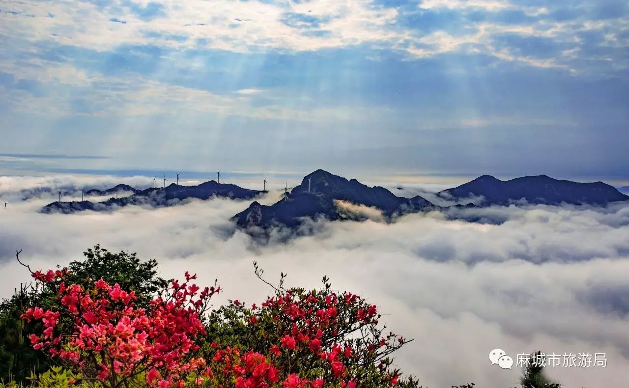
[[[56,200],[60,187],[69,193],[65,200],[80,199],[77,188],[133,186],[134,180],[138,187],[152,184],[143,179],[0,177],[0,194],[9,202],[0,209],[0,297],[29,280],[14,258],[19,249],[23,261],[40,269],[79,259],[97,243],[137,252],[140,258],[157,259],[163,277],[182,277],[189,270],[202,284],[218,278],[224,292],[217,304],[228,299],[259,303],[270,294],[253,274],[255,260],[269,281],[286,272],[289,285],[316,287],[328,275],[335,288],[368,297],[389,328],[415,338],[399,352],[396,364],[425,387],[518,385],[520,368],[503,370],[489,362],[494,348],[514,359],[537,349],[606,353],[605,368],[555,367],[548,374],[567,388],[629,384],[629,204],[453,209],[408,214],[391,224],[373,209],[337,204],[367,220],[317,220],[310,225],[313,235],[281,243],[272,238],[267,244],[230,221],[249,201],[38,213]],[[430,189],[443,188],[392,191],[425,192],[431,199]],[[271,191],[259,202],[272,204],[280,194]]]

